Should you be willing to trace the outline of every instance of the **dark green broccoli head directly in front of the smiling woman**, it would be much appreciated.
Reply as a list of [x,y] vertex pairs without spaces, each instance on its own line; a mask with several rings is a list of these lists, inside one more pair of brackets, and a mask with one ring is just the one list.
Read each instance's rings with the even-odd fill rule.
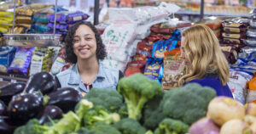
[[84,96],[94,106],[103,106],[110,112],[117,111],[123,105],[123,97],[116,90],[92,88],[88,94]]

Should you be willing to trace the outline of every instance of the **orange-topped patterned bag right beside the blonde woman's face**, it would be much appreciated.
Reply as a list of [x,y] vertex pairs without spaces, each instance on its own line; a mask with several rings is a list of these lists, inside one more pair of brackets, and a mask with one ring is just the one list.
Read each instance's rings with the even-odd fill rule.
[[186,73],[180,49],[165,52],[162,87],[164,90],[178,87],[178,80]]

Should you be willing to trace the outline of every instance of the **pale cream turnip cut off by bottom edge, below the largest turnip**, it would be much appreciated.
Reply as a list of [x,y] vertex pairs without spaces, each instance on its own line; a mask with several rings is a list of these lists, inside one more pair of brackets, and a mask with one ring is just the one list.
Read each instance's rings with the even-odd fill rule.
[[220,134],[252,134],[253,131],[242,120],[227,121],[221,128]]

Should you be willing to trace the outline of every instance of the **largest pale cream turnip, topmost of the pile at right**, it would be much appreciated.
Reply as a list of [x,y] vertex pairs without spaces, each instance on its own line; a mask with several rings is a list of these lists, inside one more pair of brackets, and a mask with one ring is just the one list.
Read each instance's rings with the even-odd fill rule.
[[245,116],[244,106],[233,98],[217,97],[213,98],[208,105],[207,116],[209,116],[218,126],[232,119],[243,120]]

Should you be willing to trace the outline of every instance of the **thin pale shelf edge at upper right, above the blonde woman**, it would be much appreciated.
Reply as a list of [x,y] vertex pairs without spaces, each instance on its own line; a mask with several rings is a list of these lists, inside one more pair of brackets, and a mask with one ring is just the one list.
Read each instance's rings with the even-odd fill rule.
[[[175,14],[188,14],[188,15],[200,15],[200,12],[193,11],[178,11]],[[249,14],[209,14],[204,13],[204,15],[212,15],[212,16],[230,16],[230,17],[249,17]]]

